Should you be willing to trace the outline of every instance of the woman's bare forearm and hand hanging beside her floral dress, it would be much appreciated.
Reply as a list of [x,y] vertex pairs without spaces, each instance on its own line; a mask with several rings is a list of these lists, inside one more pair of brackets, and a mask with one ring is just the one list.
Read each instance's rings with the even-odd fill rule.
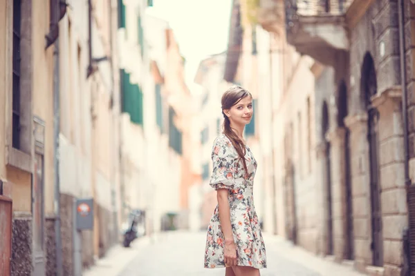
[[217,190],[217,199],[219,205],[219,220],[221,222],[221,229],[225,239],[225,246],[223,246],[224,258],[223,261],[227,266],[237,265],[237,247],[234,244],[232,225],[230,223],[230,208],[229,208],[229,190],[221,188]]

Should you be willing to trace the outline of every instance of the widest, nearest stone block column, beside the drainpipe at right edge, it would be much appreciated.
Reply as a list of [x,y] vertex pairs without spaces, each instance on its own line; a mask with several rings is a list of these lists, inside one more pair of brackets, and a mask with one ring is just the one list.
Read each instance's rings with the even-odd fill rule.
[[403,121],[400,89],[382,92],[372,104],[380,114],[379,167],[385,275],[400,275],[403,230],[407,228],[404,176]]

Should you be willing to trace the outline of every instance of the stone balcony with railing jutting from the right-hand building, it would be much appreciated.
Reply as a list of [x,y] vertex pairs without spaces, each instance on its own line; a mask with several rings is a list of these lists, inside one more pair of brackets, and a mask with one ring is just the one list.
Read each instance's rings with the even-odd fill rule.
[[298,52],[332,65],[349,50],[346,12],[353,0],[284,0],[287,41]]

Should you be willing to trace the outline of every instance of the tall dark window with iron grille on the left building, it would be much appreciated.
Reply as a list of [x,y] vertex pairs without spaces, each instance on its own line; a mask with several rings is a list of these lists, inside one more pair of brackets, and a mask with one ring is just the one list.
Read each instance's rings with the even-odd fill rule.
[[12,146],[20,149],[20,40],[21,40],[21,2],[13,1],[13,88],[12,88]]

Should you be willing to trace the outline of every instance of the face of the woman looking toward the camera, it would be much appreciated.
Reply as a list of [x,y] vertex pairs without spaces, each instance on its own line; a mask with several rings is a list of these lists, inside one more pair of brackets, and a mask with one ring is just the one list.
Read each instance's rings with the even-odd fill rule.
[[245,126],[252,119],[252,98],[246,96],[228,110],[223,110],[234,126]]

